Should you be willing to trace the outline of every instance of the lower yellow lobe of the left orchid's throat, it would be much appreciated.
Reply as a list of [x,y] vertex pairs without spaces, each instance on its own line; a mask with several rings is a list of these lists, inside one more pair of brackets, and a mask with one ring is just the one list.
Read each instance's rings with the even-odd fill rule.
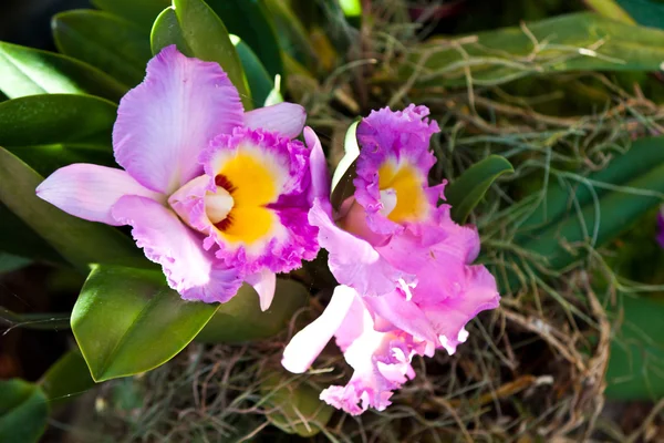
[[264,207],[235,207],[230,214],[232,220],[221,236],[229,243],[252,245],[272,231],[278,223],[277,215]]

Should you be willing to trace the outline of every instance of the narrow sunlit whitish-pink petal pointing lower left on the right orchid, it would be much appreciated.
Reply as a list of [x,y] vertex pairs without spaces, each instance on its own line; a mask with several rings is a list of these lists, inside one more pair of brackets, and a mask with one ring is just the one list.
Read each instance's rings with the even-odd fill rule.
[[352,288],[338,286],[323,313],[298,332],[283,350],[283,368],[293,373],[307,371],[336,333],[356,297]]

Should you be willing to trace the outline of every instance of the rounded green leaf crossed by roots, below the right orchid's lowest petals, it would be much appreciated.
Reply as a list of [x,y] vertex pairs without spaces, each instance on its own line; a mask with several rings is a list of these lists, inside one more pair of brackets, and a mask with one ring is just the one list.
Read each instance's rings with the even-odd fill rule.
[[283,370],[266,374],[260,383],[261,403],[268,405],[270,423],[286,433],[300,436],[318,434],[334,413],[319,399],[320,390]]

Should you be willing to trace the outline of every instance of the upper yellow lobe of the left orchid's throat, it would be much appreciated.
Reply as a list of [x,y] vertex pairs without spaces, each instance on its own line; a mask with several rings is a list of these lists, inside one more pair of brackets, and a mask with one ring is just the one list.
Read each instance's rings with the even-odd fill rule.
[[227,161],[217,173],[224,175],[231,184],[235,207],[262,206],[273,203],[279,197],[277,172],[270,169],[266,157],[248,150],[239,150],[238,154]]

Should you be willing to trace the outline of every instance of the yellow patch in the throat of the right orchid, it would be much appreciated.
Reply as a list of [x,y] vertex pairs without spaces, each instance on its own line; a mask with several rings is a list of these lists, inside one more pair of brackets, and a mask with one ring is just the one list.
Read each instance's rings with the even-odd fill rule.
[[424,194],[426,178],[408,163],[386,162],[378,168],[378,188],[394,189],[396,206],[387,215],[395,223],[415,222],[427,215],[428,202]]

